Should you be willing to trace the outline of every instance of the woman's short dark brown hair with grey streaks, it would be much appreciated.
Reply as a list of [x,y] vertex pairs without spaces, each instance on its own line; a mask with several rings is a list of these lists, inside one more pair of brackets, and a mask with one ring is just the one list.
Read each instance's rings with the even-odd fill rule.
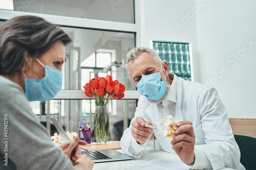
[[64,45],[71,38],[58,26],[37,16],[18,16],[0,28],[0,75],[13,75],[26,61],[26,53],[34,59],[47,52],[56,41]]

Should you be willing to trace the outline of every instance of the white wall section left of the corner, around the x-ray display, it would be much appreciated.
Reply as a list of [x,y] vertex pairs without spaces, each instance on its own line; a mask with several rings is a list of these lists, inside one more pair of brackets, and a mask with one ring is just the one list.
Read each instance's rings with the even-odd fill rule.
[[181,22],[181,14],[194,6],[194,1],[146,0],[141,1],[142,46],[150,46],[150,40],[191,42],[193,47],[194,80],[199,81],[197,22],[196,18],[181,29],[176,29],[174,22]]

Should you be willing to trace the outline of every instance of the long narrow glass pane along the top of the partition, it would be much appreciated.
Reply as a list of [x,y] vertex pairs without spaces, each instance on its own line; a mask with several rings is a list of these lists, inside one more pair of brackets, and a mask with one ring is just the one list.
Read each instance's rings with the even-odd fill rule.
[[134,23],[133,0],[13,0],[13,9],[30,13]]

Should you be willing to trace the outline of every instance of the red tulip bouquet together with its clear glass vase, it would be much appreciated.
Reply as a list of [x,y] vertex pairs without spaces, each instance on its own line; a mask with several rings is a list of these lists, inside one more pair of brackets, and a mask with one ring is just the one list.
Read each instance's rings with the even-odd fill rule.
[[97,77],[83,86],[84,93],[90,98],[95,98],[94,134],[98,143],[105,143],[109,138],[109,112],[106,105],[111,99],[124,97],[125,87],[112,76]]

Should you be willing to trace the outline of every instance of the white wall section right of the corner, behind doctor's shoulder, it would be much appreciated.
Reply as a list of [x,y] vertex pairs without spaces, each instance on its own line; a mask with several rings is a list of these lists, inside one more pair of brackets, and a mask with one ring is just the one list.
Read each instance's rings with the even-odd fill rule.
[[197,15],[200,82],[217,88],[231,118],[256,118],[255,7],[253,0],[206,1]]

